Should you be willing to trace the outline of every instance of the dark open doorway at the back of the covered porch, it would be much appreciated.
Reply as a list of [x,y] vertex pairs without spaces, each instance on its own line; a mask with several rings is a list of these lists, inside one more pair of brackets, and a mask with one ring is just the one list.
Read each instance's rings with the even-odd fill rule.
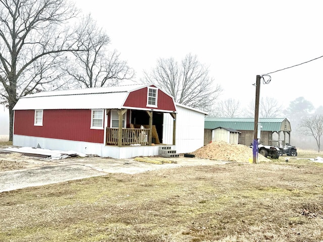
[[[152,112],[152,125],[156,127],[159,143],[163,143],[163,120],[164,114],[162,112]],[[149,116],[146,111],[132,110],[131,124],[137,127],[140,125],[149,125]],[[155,143],[155,140],[152,141]]]

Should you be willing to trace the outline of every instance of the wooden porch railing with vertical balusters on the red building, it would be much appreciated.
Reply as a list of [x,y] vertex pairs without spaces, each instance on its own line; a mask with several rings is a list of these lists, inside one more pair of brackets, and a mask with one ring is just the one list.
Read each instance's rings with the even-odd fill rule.
[[[106,128],[106,145],[118,145],[118,128]],[[148,145],[149,129],[122,129],[121,145]]]

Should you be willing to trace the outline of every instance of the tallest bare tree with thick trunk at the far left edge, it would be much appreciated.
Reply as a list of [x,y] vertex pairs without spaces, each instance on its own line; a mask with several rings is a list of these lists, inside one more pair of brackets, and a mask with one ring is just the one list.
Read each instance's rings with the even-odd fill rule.
[[78,12],[66,0],[0,0],[1,97],[10,112],[10,140],[13,107],[32,92],[52,88],[60,78],[63,53],[79,51],[73,28],[67,26]]

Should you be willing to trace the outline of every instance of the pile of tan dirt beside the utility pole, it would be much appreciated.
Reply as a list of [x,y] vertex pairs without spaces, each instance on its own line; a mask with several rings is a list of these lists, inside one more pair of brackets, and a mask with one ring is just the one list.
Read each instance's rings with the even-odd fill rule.
[[[224,141],[212,142],[198,150],[192,152],[195,157],[212,159],[212,160],[228,160],[239,162],[252,162],[252,149],[245,145],[234,145]],[[259,154],[259,162],[270,161]]]

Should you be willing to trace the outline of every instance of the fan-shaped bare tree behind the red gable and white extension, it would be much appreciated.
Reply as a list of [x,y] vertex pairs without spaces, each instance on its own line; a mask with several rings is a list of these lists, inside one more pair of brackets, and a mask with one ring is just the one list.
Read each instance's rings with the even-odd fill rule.
[[208,67],[196,55],[187,54],[180,64],[174,58],[160,58],[145,80],[156,83],[172,95],[176,102],[202,110],[210,110],[222,92],[209,77]]

